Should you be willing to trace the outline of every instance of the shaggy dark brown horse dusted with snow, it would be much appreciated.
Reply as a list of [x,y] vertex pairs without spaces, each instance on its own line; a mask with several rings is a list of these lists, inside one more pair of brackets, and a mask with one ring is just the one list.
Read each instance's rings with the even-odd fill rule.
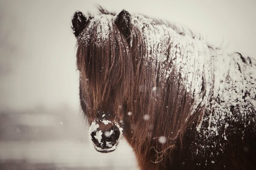
[[255,169],[255,60],[177,23],[98,9],[72,18],[95,150],[124,136],[141,170]]

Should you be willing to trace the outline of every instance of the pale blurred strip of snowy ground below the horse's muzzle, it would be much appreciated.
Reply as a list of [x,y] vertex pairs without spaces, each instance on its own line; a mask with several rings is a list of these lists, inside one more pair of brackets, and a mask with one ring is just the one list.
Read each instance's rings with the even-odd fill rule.
[[87,143],[77,142],[0,142],[2,169],[83,169],[136,170],[136,161],[127,143],[122,141],[113,153],[96,152]]

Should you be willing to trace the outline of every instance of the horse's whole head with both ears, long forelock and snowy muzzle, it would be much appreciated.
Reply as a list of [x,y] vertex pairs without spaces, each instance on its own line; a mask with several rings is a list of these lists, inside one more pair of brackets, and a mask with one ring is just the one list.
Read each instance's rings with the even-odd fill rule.
[[72,19],[77,37],[80,72],[80,104],[88,122],[94,148],[115,150],[124,127],[124,113],[132,92],[132,57],[129,51],[130,14],[85,17],[77,11]]

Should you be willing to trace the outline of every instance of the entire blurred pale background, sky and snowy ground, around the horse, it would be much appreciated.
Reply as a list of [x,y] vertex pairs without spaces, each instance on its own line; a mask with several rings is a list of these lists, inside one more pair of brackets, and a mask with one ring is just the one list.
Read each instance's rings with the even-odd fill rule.
[[124,139],[89,144],[79,108],[76,10],[138,12],[182,23],[208,42],[256,58],[254,0],[0,0],[0,170],[137,170]]

